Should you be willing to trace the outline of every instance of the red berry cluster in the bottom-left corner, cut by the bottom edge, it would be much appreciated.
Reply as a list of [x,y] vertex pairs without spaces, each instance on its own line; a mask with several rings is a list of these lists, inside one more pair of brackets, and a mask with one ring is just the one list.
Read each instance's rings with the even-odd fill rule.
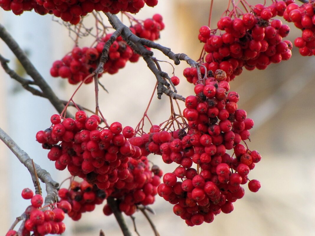
[[[71,212],[71,205],[66,202],[60,202],[56,205],[48,205],[43,207],[43,197],[40,194],[33,194],[29,188],[22,191],[24,199],[31,199],[25,212],[22,214],[23,224],[21,227],[23,236],[43,236],[46,234],[61,234],[65,232],[66,226],[62,222],[65,218],[65,212]],[[9,230],[6,236],[15,236],[15,230]]]

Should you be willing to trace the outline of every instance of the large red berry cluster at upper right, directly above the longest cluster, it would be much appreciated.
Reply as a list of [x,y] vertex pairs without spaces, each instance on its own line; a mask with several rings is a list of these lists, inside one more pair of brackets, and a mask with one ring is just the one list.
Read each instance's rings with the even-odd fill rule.
[[[291,57],[292,43],[283,41],[289,34],[289,26],[274,19],[283,15],[286,3],[278,1],[269,7],[255,5],[254,13],[243,14],[242,19],[225,16],[218,21],[218,29],[225,31],[220,35],[212,34],[208,26],[202,26],[198,38],[204,42],[207,53],[202,60],[207,70],[217,69],[226,72],[226,81],[230,81],[247,70],[263,70],[271,63],[279,63]],[[205,73],[204,67],[201,73]],[[184,76],[190,83],[197,83],[197,70],[186,68]]]

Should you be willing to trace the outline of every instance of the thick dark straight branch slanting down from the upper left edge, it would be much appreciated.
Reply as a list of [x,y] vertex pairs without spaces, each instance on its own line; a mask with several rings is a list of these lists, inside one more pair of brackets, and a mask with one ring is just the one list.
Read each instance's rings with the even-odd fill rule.
[[[14,40],[14,38],[9,34],[8,31],[0,24],[0,38],[5,42],[10,50],[14,53],[17,59],[20,61],[23,68],[26,70],[26,73],[31,76],[34,80],[34,84],[36,84],[45,94],[45,97],[49,99],[50,103],[54,106],[54,108],[61,113],[64,109],[64,104],[60,101],[60,99],[56,96],[54,91],[45,81],[43,76],[37,71],[34,65],[26,56],[26,53],[20,48],[19,44]],[[70,113],[66,114],[68,117],[72,117]]]

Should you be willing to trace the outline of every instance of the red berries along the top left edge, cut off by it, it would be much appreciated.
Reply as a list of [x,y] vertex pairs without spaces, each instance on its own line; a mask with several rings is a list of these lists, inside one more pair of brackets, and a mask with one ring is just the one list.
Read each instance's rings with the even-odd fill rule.
[[154,7],[157,3],[158,0],[0,0],[0,7],[6,11],[12,10],[15,15],[34,9],[38,14],[54,14],[63,21],[76,25],[80,22],[82,16],[86,16],[94,10],[112,14],[121,11],[138,13],[145,4]]

